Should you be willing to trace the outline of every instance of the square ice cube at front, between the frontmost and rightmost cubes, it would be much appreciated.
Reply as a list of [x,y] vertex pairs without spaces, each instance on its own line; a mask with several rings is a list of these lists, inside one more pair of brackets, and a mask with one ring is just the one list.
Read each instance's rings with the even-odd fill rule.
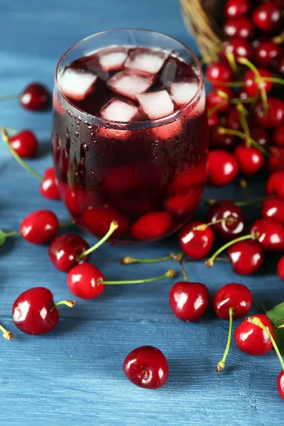
[[143,111],[151,120],[160,119],[174,111],[173,102],[166,90],[138,94],[137,99]]

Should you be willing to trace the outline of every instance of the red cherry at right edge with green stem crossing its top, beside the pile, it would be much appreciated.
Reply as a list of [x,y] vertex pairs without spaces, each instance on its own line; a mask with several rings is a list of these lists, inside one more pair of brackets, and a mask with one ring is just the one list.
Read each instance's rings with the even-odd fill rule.
[[284,121],[284,102],[275,97],[268,97],[268,112],[263,107],[262,100],[256,102],[254,108],[256,123],[264,129],[273,129]]

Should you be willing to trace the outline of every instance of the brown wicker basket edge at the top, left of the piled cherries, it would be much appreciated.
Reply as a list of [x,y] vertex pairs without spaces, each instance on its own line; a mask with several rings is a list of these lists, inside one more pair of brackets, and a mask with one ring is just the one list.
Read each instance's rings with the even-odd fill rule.
[[225,0],[180,0],[182,16],[194,35],[205,62],[212,60],[222,43]]

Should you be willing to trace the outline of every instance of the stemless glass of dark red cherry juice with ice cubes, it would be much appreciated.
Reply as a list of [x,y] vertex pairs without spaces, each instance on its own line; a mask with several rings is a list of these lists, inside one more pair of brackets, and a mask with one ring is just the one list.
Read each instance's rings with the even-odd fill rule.
[[154,31],[91,35],[62,56],[53,93],[53,159],[72,218],[133,244],[179,229],[207,178],[208,129],[195,55]]

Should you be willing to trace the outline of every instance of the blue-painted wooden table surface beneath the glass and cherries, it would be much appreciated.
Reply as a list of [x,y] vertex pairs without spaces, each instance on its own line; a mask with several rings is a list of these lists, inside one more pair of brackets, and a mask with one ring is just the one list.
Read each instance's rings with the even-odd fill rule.
[[[197,50],[180,16],[178,0],[1,1],[0,94],[21,92],[33,80],[53,87],[60,55],[76,40],[107,28],[151,28],[173,35]],[[51,114],[32,114],[16,101],[0,104],[1,125],[33,129],[40,153],[30,164],[39,172],[51,165]],[[53,209],[67,219],[61,202],[44,200],[38,181],[22,170],[0,147],[0,227],[17,229],[34,209]],[[252,195],[259,195],[255,182]],[[207,190],[204,197],[241,197],[237,182],[225,190]],[[202,217],[204,207],[195,217]],[[256,211],[253,213],[256,214]],[[250,214],[251,216],[251,211]],[[92,238],[86,236],[91,243]],[[178,250],[176,238],[131,249],[137,257],[166,255]],[[226,369],[217,376],[217,361],[226,344],[228,323],[209,312],[196,324],[173,317],[168,293],[175,280],[147,285],[108,286],[97,300],[78,300],[60,309],[54,332],[31,337],[11,322],[16,297],[38,285],[50,288],[56,300],[70,297],[66,277],[55,270],[46,246],[21,238],[0,249],[0,322],[15,332],[13,342],[0,339],[0,425],[280,425],[284,404],[278,396],[280,371],[275,354],[253,358],[233,344]],[[104,245],[92,261],[109,279],[159,275],[174,263],[122,267],[118,259],[129,249]],[[273,306],[284,300],[284,286],[274,264],[260,275],[241,278],[229,264],[207,270],[188,263],[190,280],[208,285],[211,295],[230,282],[248,285],[258,301]],[[136,346],[158,346],[168,358],[168,383],[158,391],[136,388],[124,377],[122,364]]]

